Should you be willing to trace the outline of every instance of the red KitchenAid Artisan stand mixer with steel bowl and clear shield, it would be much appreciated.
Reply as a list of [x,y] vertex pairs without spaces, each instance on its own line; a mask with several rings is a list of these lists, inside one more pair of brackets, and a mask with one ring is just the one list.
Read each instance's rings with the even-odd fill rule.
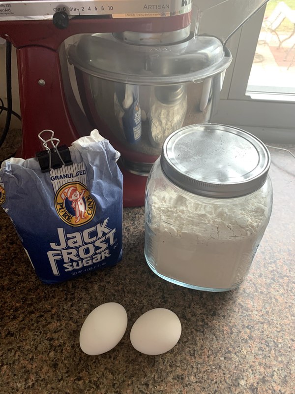
[[[178,105],[178,107],[182,108],[183,112],[185,105],[185,114],[182,117],[180,126],[185,126],[189,123],[208,122],[218,105],[224,72],[231,62],[231,55],[227,53],[224,41],[229,36],[229,33],[234,32],[265,2],[252,0],[247,9],[243,9],[241,5],[239,5],[237,11],[233,8],[234,23],[227,26],[228,32],[218,35],[218,40],[215,37],[206,37],[211,32],[217,36],[214,31],[214,29],[216,30],[216,23],[212,24],[211,31],[207,31],[202,26],[203,18],[201,16],[203,15],[203,10],[207,9],[207,14],[204,14],[205,16],[207,15],[204,17],[204,21],[206,21],[206,18],[212,19],[210,16],[212,15],[212,10],[216,18],[220,11],[220,8],[218,11],[217,5],[223,7],[223,4],[227,3],[227,6],[231,7],[233,4],[238,3],[236,0],[196,0],[196,4],[199,7],[196,8],[197,16],[194,17],[193,32],[191,32],[191,0],[167,0],[156,2],[156,4],[150,0],[12,0],[9,3],[1,1],[0,36],[11,42],[17,49],[23,138],[22,147],[18,155],[25,159],[30,158],[35,156],[36,151],[42,149],[40,140],[37,138],[38,133],[42,130],[53,130],[55,136],[60,139],[61,144],[70,145],[80,136],[88,135],[92,129],[97,128],[122,155],[123,160],[120,163],[120,167],[124,175],[124,206],[143,205],[148,171],[160,155],[161,142],[165,137],[165,135],[161,135],[162,139],[159,139],[159,133],[153,134],[150,126],[151,123],[153,125],[156,122],[159,123],[160,115],[156,122],[150,122],[149,118],[148,123],[146,118],[149,117],[151,105],[147,105],[148,110],[146,111],[142,108],[141,119],[143,125],[145,122],[149,124],[147,126],[149,140],[148,137],[145,137],[146,132],[143,128],[142,145],[137,147],[136,144],[129,144],[128,139],[123,141],[122,133],[118,133],[120,137],[117,135],[120,122],[118,116],[116,118],[114,115],[113,91],[109,95],[109,100],[113,100],[111,103],[111,115],[105,116],[104,109],[100,110],[99,114],[97,108],[92,108],[95,107],[93,104],[93,97],[95,96],[93,96],[93,83],[97,83],[97,78],[99,79],[99,84],[101,81],[104,81],[102,85],[99,85],[99,88],[102,90],[102,99],[100,98],[101,108],[103,108],[102,102],[108,102],[108,99],[105,99],[107,94],[104,95],[104,92],[106,92],[104,88],[109,89],[108,83],[113,85],[117,83],[116,86],[114,85],[115,88],[112,85],[112,89],[116,89],[118,84],[123,84],[125,101],[127,91],[129,91],[129,87],[127,89],[126,86],[128,84],[133,86],[132,92],[134,92],[134,86],[137,87],[139,85],[139,94],[143,95],[141,90],[148,89],[148,97],[153,95],[153,97],[156,97],[157,102],[160,102],[161,105],[163,104],[166,112],[162,112],[161,116],[166,114],[167,117],[168,114],[169,117],[169,114],[173,113],[171,103],[175,105],[176,102],[180,102],[181,97],[181,105]],[[216,8],[216,11],[214,8]],[[222,9],[226,10],[224,7]],[[194,38],[196,32],[203,35],[203,37],[200,37],[202,39],[201,44]],[[67,55],[62,44],[68,37],[85,33],[91,33],[88,35],[90,38],[85,38],[86,41],[83,41],[84,38],[82,36],[80,44],[72,48],[72,52],[70,50],[67,54],[70,63],[73,63],[75,66],[79,93],[83,103],[82,109],[77,103],[71,87],[67,73]],[[112,34],[111,38],[110,33]],[[107,40],[105,40],[104,34],[106,34]],[[113,37],[115,38],[113,39]],[[116,42],[113,42],[114,40]],[[220,42],[220,45],[216,44],[217,41]],[[109,47],[108,42],[110,42]],[[149,59],[147,58],[147,51],[154,51],[152,66],[146,66],[144,63],[139,62],[139,66],[144,68],[144,72],[148,70],[151,74],[145,76],[142,70],[138,71],[137,67],[132,66],[136,61],[131,60],[127,66],[125,65],[126,72],[128,73],[128,67],[135,68],[135,71],[133,71],[137,78],[134,77],[132,79],[133,74],[131,73],[130,75],[124,74],[125,79],[122,79],[118,72],[120,60],[112,64],[111,59],[117,51],[116,48],[117,45],[120,45],[118,44],[120,42],[123,48],[122,59],[129,56],[128,48],[132,48],[132,50],[135,48],[135,50],[138,50],[138,53],[141,53],[142,49],[140,46],[144,47],[146,52],[143,58],[140,59],[140,62],[146,62],[146,59]],[[103,45],[105,44],[106,46],[104,47]],[[127,52],[124,52],[124,45],[128,44]],[[97,50],[95,45],[97,45]],[[194,45],[197,45],[196,50]],[[87,64],[84,64],[84,60],[78,58],[79,53],[83,52],[84,48],[89,50],[86,52],[86,58],[90,50],[92,51],[91,56],[95,53],[97,69],[95,69],[95,65],[93,66],[95,61],[91,56],[88,56],[88,59],[86,59]],[[101,65],[102,63],[100,62],[104,58],[103,52],[98,51],[110,53],[110,59],[104,65]],[[168,52],[172,53],[172,57],[166,56]],[[164,56],[164,61],[160,62],[161,70],[159,71],[157,59],[163,53],[166,57]],[[193,60],[193,65],[196,64],[194,62],[197,62],[198,66],[191,66],[190,59],[194,53],[197,53],[197,58]],[[183,60],[181,67],[185,69],[183,71],[181,68],[181,72],[174,67],[174,65],[179,64],[180,57]],[[117,69],[116,75],[119,76],[116,77],[115,75],[112,80],[113,76],[108,74],[108,70],[112,73],[110,68],[113,68],[113,66],[115,69],[113,74],[116,74]],[[122,65],[123,68],[124,66]],[[181,79],[179,75],[183,73],[189,75],[190,79]],[[87,77],[85,77],[86,74],[88,75]],[[153,81],[152,93],[150,86],[148,86],[148,78]],[[173,82],[166,82],[164,78],[172,78]],[[188,81],[190,83],[186,86]],[[105,83],[107,85],[104,85]],[[168,88],[166,83],[169,85]],[[200,89],[190,93],[192,89],[195,89],[195,85]],[[184,90],[185,93],[183,93]],[[192,95],[191,98],[190,95]],[[185,100],[183,97],[185,97]],[[192,97],[194,99],[198,97],[197,105],[195,102],[193,103],[194,99]],[[170,112],[167,112],[166,108],[168,107]],[[201,118],[195,116],[194,111],[197,107],[198,110],[196,112],[202,114]],[[117,122],[114,125],[112,125],[112,117]],[[165,123],[165,127],[167,127],[167,123]],[[179,127],[179,123],[171,127],[175,130],[176,127]],[[170,132],[174,130],[171,129]],[[149,151],[143,150],[143,145],[145,138],[150,142],[150,135],[152,135],[152,142],[155,144],[151,144],[153,145],[153,150],[149,153]],[[138,170],[137,164],[143,164],[143,168]]]

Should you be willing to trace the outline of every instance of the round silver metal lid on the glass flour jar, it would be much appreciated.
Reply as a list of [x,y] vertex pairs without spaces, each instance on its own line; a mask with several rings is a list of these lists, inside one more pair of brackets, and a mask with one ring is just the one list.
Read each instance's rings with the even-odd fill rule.
[[240,197],[266,181],[270,154],[247,131],[218,124],[192,125],[170,134],[161,167],[181,189],[217,198]]

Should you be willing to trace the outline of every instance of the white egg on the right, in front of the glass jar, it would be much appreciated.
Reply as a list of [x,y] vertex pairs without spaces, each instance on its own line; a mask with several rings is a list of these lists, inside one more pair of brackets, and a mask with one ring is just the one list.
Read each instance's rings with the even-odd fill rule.
[[169,309],[156,308],[140,316],[130,332],[134,348],[148,355],[159,355],[171,350],[181,335],[181,323]]

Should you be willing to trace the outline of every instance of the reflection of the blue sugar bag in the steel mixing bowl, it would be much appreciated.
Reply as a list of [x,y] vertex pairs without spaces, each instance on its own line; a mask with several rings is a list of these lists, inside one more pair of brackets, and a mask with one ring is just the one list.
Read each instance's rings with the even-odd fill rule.
[[115,114],[126,140],[135,143],[141,138],[141,109],[137,85],[116,84]]

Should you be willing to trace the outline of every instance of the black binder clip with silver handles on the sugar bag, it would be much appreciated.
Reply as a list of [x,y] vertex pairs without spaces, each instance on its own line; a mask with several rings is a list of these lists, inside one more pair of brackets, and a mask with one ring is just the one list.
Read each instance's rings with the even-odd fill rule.
[[[43,139],[41,134],[43,132],[50,132],[51,137]],[[66,145],[59,145],[59,139],[54,138],[54,131],[43,130],[38,134],[39,139],[43,141],[45,150],[36,152],[36,158],[41,167],[42,172],[48,172],[51,169],[60,168],[62,165],[73,164],[69,148]],[[47,143],[51,142],[52,148],[47,146]]]

